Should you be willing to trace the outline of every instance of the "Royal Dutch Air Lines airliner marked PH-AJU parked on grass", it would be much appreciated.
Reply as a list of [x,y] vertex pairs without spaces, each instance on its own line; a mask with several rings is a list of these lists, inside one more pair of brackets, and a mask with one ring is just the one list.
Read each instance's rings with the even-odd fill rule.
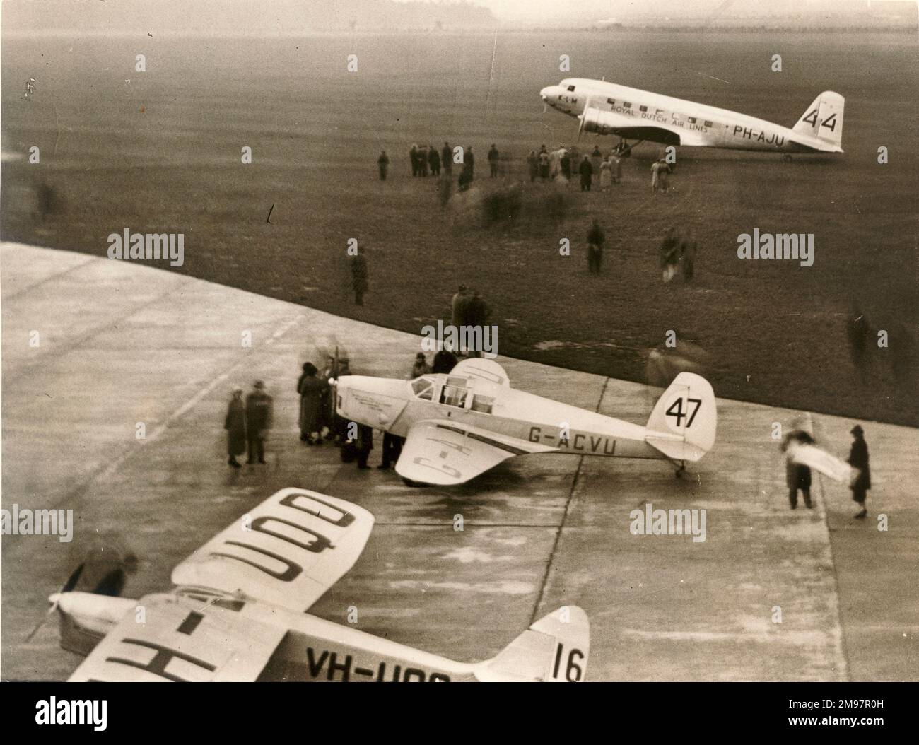
[[539,95],[548,106],[580,119],[579,135],[594,132],[618,135],[623,141],[786,155],[843,152],[845,98],[833,91],[817,96],[790,130],[724,108],[601,80],[570,78],[543,88]]

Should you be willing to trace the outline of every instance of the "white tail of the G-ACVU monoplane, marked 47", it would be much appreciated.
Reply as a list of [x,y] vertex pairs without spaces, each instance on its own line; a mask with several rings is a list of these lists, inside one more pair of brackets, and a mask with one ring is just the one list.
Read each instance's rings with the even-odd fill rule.
[[681,372],[657,400],[645,441],[672,460],[697,461],[715,444],[718,411],[709,381]]

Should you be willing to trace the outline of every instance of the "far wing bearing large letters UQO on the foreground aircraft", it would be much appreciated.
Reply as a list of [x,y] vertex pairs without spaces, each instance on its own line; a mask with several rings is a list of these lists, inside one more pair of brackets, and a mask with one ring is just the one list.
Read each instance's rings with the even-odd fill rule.
[[357,504],[283,489],[185,559],[172,580],[302,613],[351,569],[372,527]]

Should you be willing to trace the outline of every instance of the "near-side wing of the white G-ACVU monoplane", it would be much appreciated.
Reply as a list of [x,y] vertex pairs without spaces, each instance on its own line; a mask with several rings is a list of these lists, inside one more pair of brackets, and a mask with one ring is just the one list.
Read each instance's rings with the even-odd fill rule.
[[414,423],[409,430],[396,473],[404,479],[452,486],[465,483],[509,457],[554,449],[469,424],[427,420]]

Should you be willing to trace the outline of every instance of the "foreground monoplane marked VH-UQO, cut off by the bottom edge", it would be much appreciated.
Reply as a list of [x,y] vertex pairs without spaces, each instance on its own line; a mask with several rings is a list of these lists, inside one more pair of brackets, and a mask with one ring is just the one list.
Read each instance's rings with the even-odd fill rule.
[[55,593],[71,681],[460,682],[584,680],[587,615],[565,606],[491,660],[462,663],[305,611],[349,570],[373,526],[356,504],[284,489],[140,600]]

